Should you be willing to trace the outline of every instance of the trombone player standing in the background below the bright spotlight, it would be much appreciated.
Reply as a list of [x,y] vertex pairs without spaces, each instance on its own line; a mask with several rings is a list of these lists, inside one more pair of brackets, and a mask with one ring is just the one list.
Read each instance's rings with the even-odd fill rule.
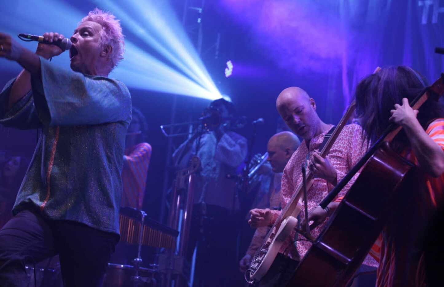
[[209,108],[220,114],[221,125],[182,143],[174,151],[173,163],[182,169],[193,155],[201,161],[187,256],[191,260],[197,246],[194,286],[229,286],[237,274],[237,232],[233,229],[238,225],[240,204],[236,183],[227,175],[234,174],[245,159],[247,140],[232,131],[236,115],[233,103],[218,99]]

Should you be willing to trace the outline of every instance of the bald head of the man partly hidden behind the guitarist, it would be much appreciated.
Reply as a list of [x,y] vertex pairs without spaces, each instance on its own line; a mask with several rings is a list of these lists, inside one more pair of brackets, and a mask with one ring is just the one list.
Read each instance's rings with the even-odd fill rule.
[[268,161],[274,172],[284,171],[285,165],[301,142],[292,132],[279,132],[268,141]]

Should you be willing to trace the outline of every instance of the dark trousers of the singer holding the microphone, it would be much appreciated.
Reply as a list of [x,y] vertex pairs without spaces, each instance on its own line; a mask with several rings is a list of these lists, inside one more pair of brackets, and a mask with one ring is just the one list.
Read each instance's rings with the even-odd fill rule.
[[83,223],[20,211],[0,230],[0,285],[27,287],[24,264],[59,254],[65,287],[102,286],[117,239]]

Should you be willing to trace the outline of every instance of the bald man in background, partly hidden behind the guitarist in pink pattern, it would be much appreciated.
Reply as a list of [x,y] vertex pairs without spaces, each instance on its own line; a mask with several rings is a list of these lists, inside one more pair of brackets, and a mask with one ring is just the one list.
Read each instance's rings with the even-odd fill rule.
[[[270,163],[274,175],[266,199],[269,203],[268,206],[272,209],[279,209],[281,205],[280,192],[282,171],[284,171],[285,165],[288,163],[291,155],[293,155],[293,152],[296,151],[300,144],[301,142],[292,132],[279,132],[272,136],[268,141],[267,161]],[[254,253],[256,253],[258,248],[261,247],[262,242],[264,241],[269,230],[270,227],[267,226],[256,229],[245,256],[239,261],[239,270],[241,272],[245,272],[248,267],[250,267],[251,258],[254,256]]]

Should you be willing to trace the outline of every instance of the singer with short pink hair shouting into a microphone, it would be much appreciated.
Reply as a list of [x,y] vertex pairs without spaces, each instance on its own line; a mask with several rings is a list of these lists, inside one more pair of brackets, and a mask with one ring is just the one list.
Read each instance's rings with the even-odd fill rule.
[[[47,43],[64,36],[48,32]],[[64,286],[101,286],[119,241],[119,206],[131,96],[108,78],[123,59],[119,20],[94,9],[70,37],[71,69],[48,61],[63,51],[39,43],[35,53],[0,33],[0,57],[24,69],[0,93],[0,124],[41,128],[40,139],[0,230],[2,286],[28,286],[26,263],[59,254]]]

